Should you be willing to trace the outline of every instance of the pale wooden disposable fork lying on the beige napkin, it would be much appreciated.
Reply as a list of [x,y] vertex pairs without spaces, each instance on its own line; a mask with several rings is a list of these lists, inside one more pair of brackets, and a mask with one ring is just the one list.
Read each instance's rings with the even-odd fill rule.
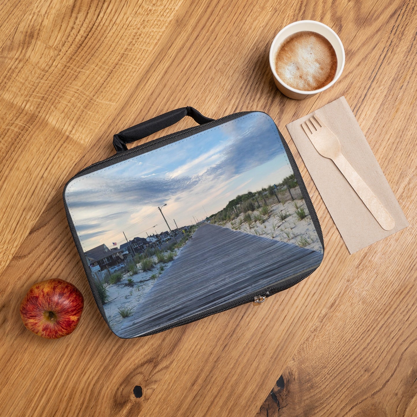
[[343,156],[337,136],[317,116],[309,118],[301,123],[301,126],[317,152],[324,158],[331,159],[339,168],[339,171],[347,179],[380,226],[384,230],[393,229],[395,226],[394,219]]

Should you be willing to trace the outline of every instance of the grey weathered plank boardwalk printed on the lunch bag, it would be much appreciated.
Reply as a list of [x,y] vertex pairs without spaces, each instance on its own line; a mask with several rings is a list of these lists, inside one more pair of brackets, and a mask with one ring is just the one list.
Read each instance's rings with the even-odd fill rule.
[[159,276],[120,337],[133,337],[317,267],[323,254],[204,224]]

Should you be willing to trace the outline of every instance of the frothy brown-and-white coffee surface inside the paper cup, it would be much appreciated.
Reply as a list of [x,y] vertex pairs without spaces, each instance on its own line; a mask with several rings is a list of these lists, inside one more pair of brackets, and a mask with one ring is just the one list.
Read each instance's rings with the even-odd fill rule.
[[292,88],[318,90],[336,74],[336,52],[319,33],[297,32],[281,44],[275,56],[275,69],[279,78]]

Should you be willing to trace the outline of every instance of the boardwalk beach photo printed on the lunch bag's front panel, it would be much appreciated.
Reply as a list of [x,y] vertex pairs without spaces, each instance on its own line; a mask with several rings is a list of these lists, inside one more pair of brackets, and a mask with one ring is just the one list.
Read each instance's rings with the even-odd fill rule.
[[65,201],[119,337],[157,332],[313,270],[323,257],[264,113],[75,178]]

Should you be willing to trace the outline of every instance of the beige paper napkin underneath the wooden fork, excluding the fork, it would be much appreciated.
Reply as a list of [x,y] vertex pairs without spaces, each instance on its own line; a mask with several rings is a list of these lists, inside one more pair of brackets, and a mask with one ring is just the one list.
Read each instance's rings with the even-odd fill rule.
[[[311,144],[301,128],[301,123],[313,114],[317,114],[339,138],[344,156],[394,218],[394,229],[386,231],[379,226],[333,161],[319,155]],[[344,97],[289,123],[287,129],[351,254],[408,226],[407,219]]]

